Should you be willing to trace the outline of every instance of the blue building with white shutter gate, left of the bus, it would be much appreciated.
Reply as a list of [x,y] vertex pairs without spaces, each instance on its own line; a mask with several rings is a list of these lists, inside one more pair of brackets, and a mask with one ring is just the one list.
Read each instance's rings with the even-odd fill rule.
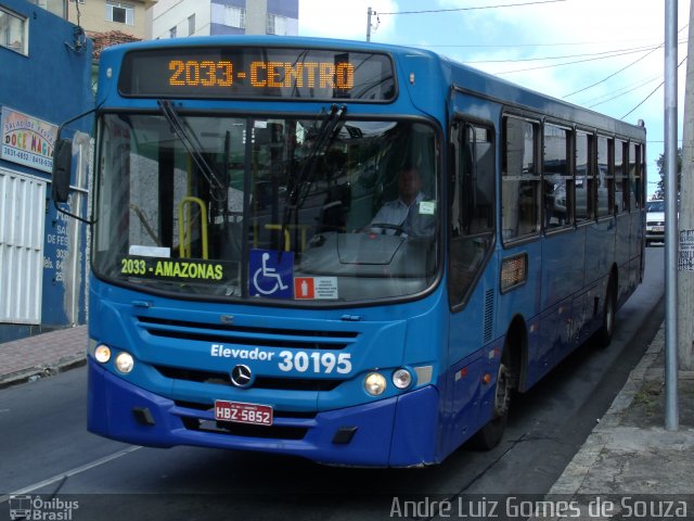
[[[0,342],[86,321],[87,227],[51,200],[59,126],[93,106],[91,43],[60,15],[0,0]],[[86,215],[91,123],[76,122],[73,211]],[[1,347],[0,347],[1,348]]]

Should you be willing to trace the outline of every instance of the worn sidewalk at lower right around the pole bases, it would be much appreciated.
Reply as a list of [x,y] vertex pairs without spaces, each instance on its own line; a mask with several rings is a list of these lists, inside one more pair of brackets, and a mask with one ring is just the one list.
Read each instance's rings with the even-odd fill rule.
[[[621,392],[550,491],[548,498],[596,496],[624,500],[694,498],[694,372],[679,373],[679,430],[665,430],[665,333],[663,326]],[[686,495],[686,496],[685,496]],[[630,499],[631,500],[631,499]],[[607,518],[624,514],[619,503]],[[629,506],[627,506],[629,508]],[[694,512],[687,511],[686,519]],[[627,516],[629,519],[633,517]],[[595,519],[593,517],[593,519]]]

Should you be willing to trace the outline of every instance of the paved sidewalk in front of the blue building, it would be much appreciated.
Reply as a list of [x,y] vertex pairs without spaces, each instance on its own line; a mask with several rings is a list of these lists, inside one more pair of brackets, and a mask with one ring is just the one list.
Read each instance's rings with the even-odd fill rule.
[[0,344],[0,389],[86,364],[87,326]]

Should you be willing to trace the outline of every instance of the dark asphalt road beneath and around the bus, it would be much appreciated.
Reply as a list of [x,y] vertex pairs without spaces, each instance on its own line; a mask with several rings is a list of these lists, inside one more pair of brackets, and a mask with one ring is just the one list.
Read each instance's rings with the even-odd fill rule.
[[85,428],[85,368],[2,390],[0,521],[10,519],[10,495],[55,497],[63,503],[38,506],[53,512],[69,507],[75,521],[169,521],[429,518],[435,507],[406,512],[397,501],[544,494],[663,321],[661,247],[646,250],[646,266],[644,283],[617,316],[608,348],[586,344],[518,396],[504,442],[494,450],[462,447],[436,467],[334,468],[290,457],[142,448],[100,439]]

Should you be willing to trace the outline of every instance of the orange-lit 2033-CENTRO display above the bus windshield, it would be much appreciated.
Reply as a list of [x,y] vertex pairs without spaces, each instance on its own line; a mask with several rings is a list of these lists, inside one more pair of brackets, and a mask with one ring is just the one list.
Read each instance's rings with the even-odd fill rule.
[[118,90],[138,98],[390,101],[385,54],[317,49],[193,47],[128,52]]

